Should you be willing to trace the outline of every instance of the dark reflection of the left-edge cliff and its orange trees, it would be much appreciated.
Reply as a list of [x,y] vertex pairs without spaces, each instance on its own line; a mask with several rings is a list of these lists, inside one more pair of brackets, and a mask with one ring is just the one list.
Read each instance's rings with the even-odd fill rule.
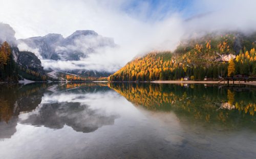
[[46,84],[0,86],[0,138],[11,138],[16,132],[17,116],[34,110],[46,88]]

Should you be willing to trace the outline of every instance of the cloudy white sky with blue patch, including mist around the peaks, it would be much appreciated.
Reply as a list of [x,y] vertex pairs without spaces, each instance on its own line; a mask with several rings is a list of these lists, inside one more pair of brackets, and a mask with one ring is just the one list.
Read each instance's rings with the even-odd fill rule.
[[[88,69],[116,71],[152,50],[174,50],[183,38],[216,30],[255,30],[256,1],[250,0],[0,0],[0,22],[29,38],[76,30],[94,30],[119,46],[101,50],[77,63]],[[42,61],[50,66],[54,61]],[[78,66],[58,61],[56,68]],[[89,66],[90,65],[90,66]]]

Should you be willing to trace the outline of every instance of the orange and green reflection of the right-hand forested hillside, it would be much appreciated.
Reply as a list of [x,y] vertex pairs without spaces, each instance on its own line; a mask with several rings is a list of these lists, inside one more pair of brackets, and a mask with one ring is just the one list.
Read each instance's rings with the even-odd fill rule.
[[151,111],[174,111],[180,118],[193,118],[191,121],[233,127],[256,121],[254,88],[234,91],[213,85],[134,83],[111,83],[109,86],[135,105]]

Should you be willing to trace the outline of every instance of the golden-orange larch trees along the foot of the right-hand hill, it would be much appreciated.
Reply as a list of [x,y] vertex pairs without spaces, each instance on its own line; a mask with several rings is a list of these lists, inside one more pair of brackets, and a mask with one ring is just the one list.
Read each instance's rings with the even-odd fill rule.
[[[206,44],[208,49],[209,44]],[[196,45],[197,49],[201,49]],[[223,46],[220,46],[223,49]],[[225,46],[226,48],[226,46]],[[189,52],[190,54],[190,52]],[[204,52],[202,52],[204,54]],[[198,55],[198,52],[196,53]],[[195,54],[194,54],[195,56]],[[186,55],[181,56],[183,59]],[[152,52],[145,57],[137,58],[109,76],[109,81],[156,81],[182,80],[188,76],[190,80],[204,80],[205,76],[212,80],[235,74],[256,75],[255,48],[240,51],[235,59],[228,62],[189,63],[177,60],[171,52]],[[184,61],[184,60],[183,60]],[[188,62],[187,62],[188,61]],[[198,61],[200,59],[198,58]]]

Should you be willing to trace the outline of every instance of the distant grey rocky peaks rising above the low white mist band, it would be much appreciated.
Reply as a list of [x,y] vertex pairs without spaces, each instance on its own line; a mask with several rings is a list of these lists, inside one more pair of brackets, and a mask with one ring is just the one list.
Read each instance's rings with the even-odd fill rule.
[[114,40],[102,37],[94,31],[75,31],[63,38],[60,34],[48,34],[43,37],[19,39],[18,44],[26,44],[28,48],[38,49],[42,59],[79,61],[103,47],[115,47]]

